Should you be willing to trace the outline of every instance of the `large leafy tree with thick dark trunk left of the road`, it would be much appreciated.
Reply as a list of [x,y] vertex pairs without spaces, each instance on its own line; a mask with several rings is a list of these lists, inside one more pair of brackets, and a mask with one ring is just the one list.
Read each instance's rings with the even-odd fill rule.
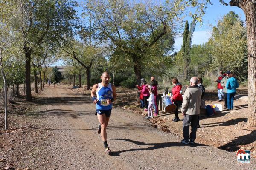
[[9,0],[18,13],[15,27],[23,37],[26,58],[26,99],[32,100],[30,88],[31,54],[36,47],[47,42],[58,44],[64,34],[69,34],[75,19],[75,2],[70,0]]

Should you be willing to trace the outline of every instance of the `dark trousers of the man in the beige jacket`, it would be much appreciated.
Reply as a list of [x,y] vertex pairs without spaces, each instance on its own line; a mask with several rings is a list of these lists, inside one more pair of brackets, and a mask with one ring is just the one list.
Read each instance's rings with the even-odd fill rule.
[[[183,119],[183,137],[185,140],[195,140],[196,139],[196,130],[197,122],[199,119],[199,114],[197,115],[188,115],[185,114]],[[189,135],[189,123],[191,123],[191,133]]]

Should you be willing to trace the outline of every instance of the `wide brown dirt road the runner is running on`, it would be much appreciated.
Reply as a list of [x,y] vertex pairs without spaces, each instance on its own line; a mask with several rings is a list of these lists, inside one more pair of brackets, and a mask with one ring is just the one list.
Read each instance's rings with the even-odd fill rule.
[[30,165],[32,169],[234,170],[256,167],[255,159],[250,165],[238,165],[234,152],[203,144],[181,144],[180,137],[155,129],[141,115],[115,107],[107,129],[112,155],[105,155],[102,139],[96,133],[95,105],[89,97],[60,86],[50,87],[45,89],[43,98],[38,98],[38,103],[41,108],[37,115],[42,125],[34,130],[48,135],[41,139],[44,146],[29,152],[35,155],[34,164]]

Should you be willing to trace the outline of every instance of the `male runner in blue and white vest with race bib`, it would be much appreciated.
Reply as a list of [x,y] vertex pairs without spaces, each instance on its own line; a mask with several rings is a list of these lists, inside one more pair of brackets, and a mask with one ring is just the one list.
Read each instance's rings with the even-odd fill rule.
[[[97,117],[99,119],[98,133],[101,134],[105,147],[105,153],[111,153],[107,144],[108,121],[111,114],[112,102],[116,100],[116,87],[109,82],[110,76],[108,72],[103,72],[101,76],[102,82],[93,85],[91,97],[93,103],[96,104]],[[96,97],[94,95],[97,95]]]

